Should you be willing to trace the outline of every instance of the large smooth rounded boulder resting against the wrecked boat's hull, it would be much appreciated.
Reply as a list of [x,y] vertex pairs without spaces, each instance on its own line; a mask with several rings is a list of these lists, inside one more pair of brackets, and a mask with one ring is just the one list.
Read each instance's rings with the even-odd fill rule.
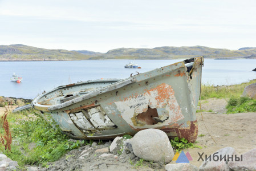
[[170,162],[174,156],[168,136],[159,129],[144,129],[136,133],[132,149],[135,156],[148,161]]

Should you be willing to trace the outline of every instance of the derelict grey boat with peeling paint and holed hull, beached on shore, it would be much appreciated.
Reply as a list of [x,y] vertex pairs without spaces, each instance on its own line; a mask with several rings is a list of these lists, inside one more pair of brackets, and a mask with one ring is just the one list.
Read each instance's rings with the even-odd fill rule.
[[107,140],[156,128],[170,138],[194,142],[203,63],[197,57],[124,80],[60,86],[36,97],[32,105],[75,139]]

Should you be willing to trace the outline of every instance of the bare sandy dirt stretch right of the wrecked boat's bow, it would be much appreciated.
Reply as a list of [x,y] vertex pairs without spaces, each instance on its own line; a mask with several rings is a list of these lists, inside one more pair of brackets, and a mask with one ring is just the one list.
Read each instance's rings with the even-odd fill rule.
[[[233,147],[238,154],[256,148],[256,128],[254,126],[256,113],[223,114],[226,112],[226,103],[226,99],[209,99],[202,101],[203,110],[212,110],[218,114],[202,112],[204,118],[203,122],[201,113],[197,113],[197,145],[202,146],[202,149],[194,148],[184,150],[185,153],[189,152],[192,156],[193,161],[190,162],[191,164],[196,166],[202,164],[201,160],[197,161],[200,158],[198,152],[200,154],[204,152],[205,157],[205,154],[209,156],[218,149],[226,146]],[[217,144],[214,143],[206,128]]]

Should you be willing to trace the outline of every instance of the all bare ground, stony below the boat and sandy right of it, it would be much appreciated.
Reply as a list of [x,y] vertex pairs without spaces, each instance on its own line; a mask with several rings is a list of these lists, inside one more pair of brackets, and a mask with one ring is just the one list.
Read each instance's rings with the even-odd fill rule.
[[[202,161],[198,153],[207,156],[226,146],[233,147],[238,154],[256,148],[256,113],[225,114],[226,99],[202,100],[202,116],[197,113],[198,143],[202,149],[186,149],[192,156],[193,164],[199,167]],[[210,111],[210,112],[209,112]],[[1,112],[1,111],[0,111]],[[202,119],[204,118],[204,120]],[[206,129],[207,128],[207,129]],[[208,131],[207,131],[208,130]],[[212,136],[212,137],[211,137]],[[39,170],[165,170],[164,163],[141,161],[133,153],[111,154],[109,146],[94,143],[71,150],[60,160],[48,163]],[[100,150],[99,150],[100,149]],[[102,154],[105,153],[103,156]],[[83,156],[84,155],[84,156]],[[175,161],[170,162],[175,164]],[[38,166],[37,166],[38,167]]]

